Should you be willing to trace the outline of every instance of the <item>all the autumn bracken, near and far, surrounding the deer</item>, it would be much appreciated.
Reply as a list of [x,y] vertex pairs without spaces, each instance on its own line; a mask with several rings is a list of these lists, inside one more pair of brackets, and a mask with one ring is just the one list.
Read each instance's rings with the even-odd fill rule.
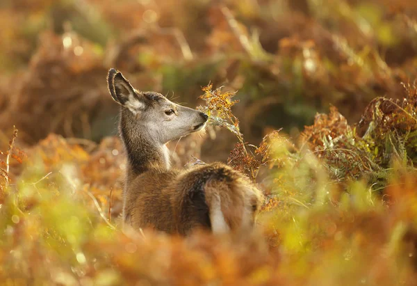
[[[2,0],[0,27],[2,281],[416,280],[416,1]],[[249,172],[259,231],[120,232],[110,67],[206,111],[200,95],[236,91],[239,121],[172,143],[172,160]]]

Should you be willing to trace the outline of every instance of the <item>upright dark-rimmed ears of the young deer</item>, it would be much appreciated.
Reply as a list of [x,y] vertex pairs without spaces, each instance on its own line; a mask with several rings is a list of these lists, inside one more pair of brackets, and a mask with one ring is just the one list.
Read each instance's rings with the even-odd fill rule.
[[138,113],[145,109],[145,97],[138,93],[127,79],[123,77],[122,72],[117,72],[114,68],[108,71],[107,77],[108,90],[113,100],[133,113]]

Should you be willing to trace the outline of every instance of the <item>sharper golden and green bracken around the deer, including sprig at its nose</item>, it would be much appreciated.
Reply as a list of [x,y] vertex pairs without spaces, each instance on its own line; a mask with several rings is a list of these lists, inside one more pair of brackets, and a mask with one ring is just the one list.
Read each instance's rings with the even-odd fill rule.
[[[357,127],[332,107],[300,142],[276,131],[246,143],[233,93],[204,88],[210,122],[238,143],[229,164],[252,180],[272,173],[253,233],[169,237],[120,230],[120,141],[89,146],[51,135],[9,183],[3,155],[1,279],[64,285],[410,285],[416,279],[416,86],[370,102]],[[82,142],[85,143],[85,142]],[[91,143],[93,144],[93,143]],[[109,189],[110,186],[110,189]],[[269,190],[269,191],[267,191]]]

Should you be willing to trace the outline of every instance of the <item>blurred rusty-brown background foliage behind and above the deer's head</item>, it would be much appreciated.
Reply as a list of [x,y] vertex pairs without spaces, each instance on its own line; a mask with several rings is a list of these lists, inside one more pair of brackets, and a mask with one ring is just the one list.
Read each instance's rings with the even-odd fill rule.
[[[99,141],[117,113],[102,74],[195,105],[200,87],[238,90],[248,140],[296,135],[337,106],[356,122],[377,96],[402,98],[416,74],[409,1],[28,1],[1,5],[1,129]],[[36,99],[36,100],[35,100]],[[24,114],[23,114],[24,113]],[[44,118],[42,130],[31,116]]]

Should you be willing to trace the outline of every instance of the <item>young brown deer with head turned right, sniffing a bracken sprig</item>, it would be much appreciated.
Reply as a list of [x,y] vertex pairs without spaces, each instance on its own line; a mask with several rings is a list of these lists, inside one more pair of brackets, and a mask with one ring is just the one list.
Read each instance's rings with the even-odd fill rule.
[[108,89],[120,104],[120,136],[128,167],[123,221],[188,235],[251,227],[263,196],[245,175],[221,163],[170,168],[166,143],[204,128],[208,116],[170,102],[160,93],[134,89],[121,72],[108,72]]

